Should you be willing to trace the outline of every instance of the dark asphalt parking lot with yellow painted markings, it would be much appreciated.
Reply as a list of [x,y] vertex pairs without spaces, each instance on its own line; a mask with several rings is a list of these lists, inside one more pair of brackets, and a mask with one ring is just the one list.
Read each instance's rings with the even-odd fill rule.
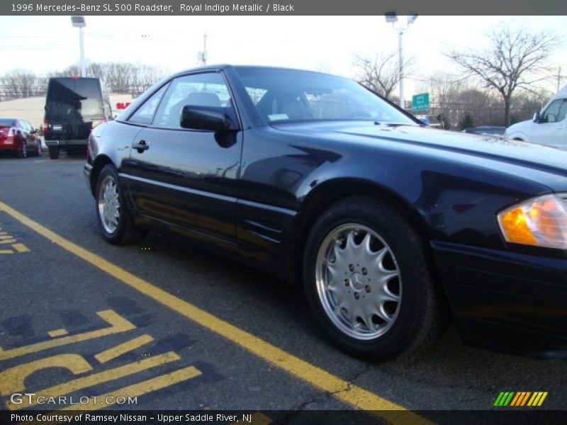
[[437,410],[498,409],[512,391],[567,409],[565,360],[477,350],[450,328],[412,356],[366,363],[330,346],[301,291],[268,275],[159,234],[107,244],[83,164],[0,158],[1,409],[77,408],[11,397],[34,392],[89,397],[91,409],[264,412],[266,423],[267,411],[349,409],[427,423],[442,421]]

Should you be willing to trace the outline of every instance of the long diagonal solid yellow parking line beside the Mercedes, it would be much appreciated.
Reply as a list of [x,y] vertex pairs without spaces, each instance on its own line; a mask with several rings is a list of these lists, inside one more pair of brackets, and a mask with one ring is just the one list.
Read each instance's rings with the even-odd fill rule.
[[[100,268],[109,275],[121,280],[126,285],[134,288],[156,300],[157,302],[166,305],[170,309],[178,312],[184,317],[191,319],[193,322],[200,324],[210,331],[219,334],[225,339],[242,346],[256,356],[263,358],[265,361],[276,365],[278,368],[285,370],[291,375],[296,376],[310,385],[319,388],[322,391],[329,392],[338,399],[346,402],[358,409],[371,411],[369,413],[378,417],[386,419],[393,424],[430,424],[431,422],[422,416],[408,411],[405,407],[395,404],[388,399],[384,399],[373,392],[364,390],[364,388],[353,385],[347,380],[343,380],[322,368],[308,363],[292,354],[283,351],[269,342],[259,339],[257,336],[249,334],[234,325],[225,322],[218,317],[213,316],[204,310],[181,300],[174,295],[158,288],[155,285],[138,278],[132,273],[125,271],[123,268],[116,266],[116,264],[106,261],[101,256],[87,251],[81,246],[59,236],[50,229],[43,227],[38,222],[31,220],[26,215],[21,214],[9,207],[5,203],[0,202],[0,210],[6,211],[11,217],[15,218],[23,225],[30,227],[35,232],[50,239],[51,242],[61,246],[79,258],[91,263],[93,266]],[[402,412],[400,412],[402,411]]]

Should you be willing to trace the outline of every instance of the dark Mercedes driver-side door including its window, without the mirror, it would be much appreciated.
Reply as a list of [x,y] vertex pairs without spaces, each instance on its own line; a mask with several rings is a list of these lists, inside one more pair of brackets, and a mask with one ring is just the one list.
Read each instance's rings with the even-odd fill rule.
[[242,133],[181,128],[181,108],[186,104],[223,106],[235,113],[221,74],[173,79],[151,125],[133,140],[130,195],[142,215],[234,242]]

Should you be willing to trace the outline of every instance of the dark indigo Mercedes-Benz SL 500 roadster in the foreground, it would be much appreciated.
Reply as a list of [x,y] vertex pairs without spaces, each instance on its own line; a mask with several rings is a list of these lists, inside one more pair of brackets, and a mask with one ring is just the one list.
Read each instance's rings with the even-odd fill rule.
[[415,350],[450,314],[468,343],[566,353],[567,152],[433,130],[341,77],[225,65],[95,128],[84,174],[108,242],[174,232],[303,285],[355,356]]

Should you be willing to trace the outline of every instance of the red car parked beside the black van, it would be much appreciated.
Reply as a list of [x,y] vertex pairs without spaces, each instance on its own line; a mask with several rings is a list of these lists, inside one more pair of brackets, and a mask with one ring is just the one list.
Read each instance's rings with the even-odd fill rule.
[[38,130],[21,118],[0,118],[0,152],[13,152],[20,158],[41,155]]

